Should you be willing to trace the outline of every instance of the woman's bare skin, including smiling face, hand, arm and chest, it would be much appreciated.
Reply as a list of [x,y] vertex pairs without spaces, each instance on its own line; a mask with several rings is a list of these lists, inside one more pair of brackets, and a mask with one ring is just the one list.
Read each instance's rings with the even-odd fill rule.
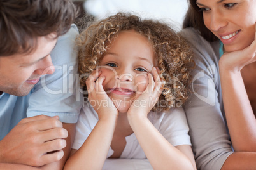
[[219,72],[227,125],[236,152],[222,169],[252,169],[256,167],[256,1],[198,0],[197,5],[203,8],[206,27],[224,44]]

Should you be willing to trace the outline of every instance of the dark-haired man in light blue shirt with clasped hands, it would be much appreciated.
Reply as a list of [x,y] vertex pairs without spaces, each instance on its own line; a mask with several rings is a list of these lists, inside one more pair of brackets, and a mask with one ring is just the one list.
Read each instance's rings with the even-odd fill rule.
[[75,10],[71,0],[0,0],[0,169],[62,169],[68,158],[82,103]]

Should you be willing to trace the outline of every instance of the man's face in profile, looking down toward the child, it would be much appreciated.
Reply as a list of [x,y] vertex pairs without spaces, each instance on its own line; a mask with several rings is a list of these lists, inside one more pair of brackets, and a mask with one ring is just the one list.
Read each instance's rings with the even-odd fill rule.
[[55,34],[39,37],[36,49],[29,54],[0,56],[0,94],[3,91],[10,95],[25,96],[41,75],[53,74],[50,52],[57,42],[54,37]]

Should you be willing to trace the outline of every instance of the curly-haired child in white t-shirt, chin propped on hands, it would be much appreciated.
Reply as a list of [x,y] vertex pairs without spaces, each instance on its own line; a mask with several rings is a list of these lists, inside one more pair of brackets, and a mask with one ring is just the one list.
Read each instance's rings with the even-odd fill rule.
[[163,23],[118,13],[82,32],[78,53],[88,101],[66,169],[102,169],[106,158],[196,169],[185,113],[171,108],[187,99],[194,65],[182,37]]

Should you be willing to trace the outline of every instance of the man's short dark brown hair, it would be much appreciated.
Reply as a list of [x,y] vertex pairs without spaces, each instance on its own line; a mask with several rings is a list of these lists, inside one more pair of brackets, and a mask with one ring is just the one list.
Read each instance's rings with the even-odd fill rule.
[[65,34],[75,17],[71,0],[0,0],[0,56],[30,53],[38,37]]

